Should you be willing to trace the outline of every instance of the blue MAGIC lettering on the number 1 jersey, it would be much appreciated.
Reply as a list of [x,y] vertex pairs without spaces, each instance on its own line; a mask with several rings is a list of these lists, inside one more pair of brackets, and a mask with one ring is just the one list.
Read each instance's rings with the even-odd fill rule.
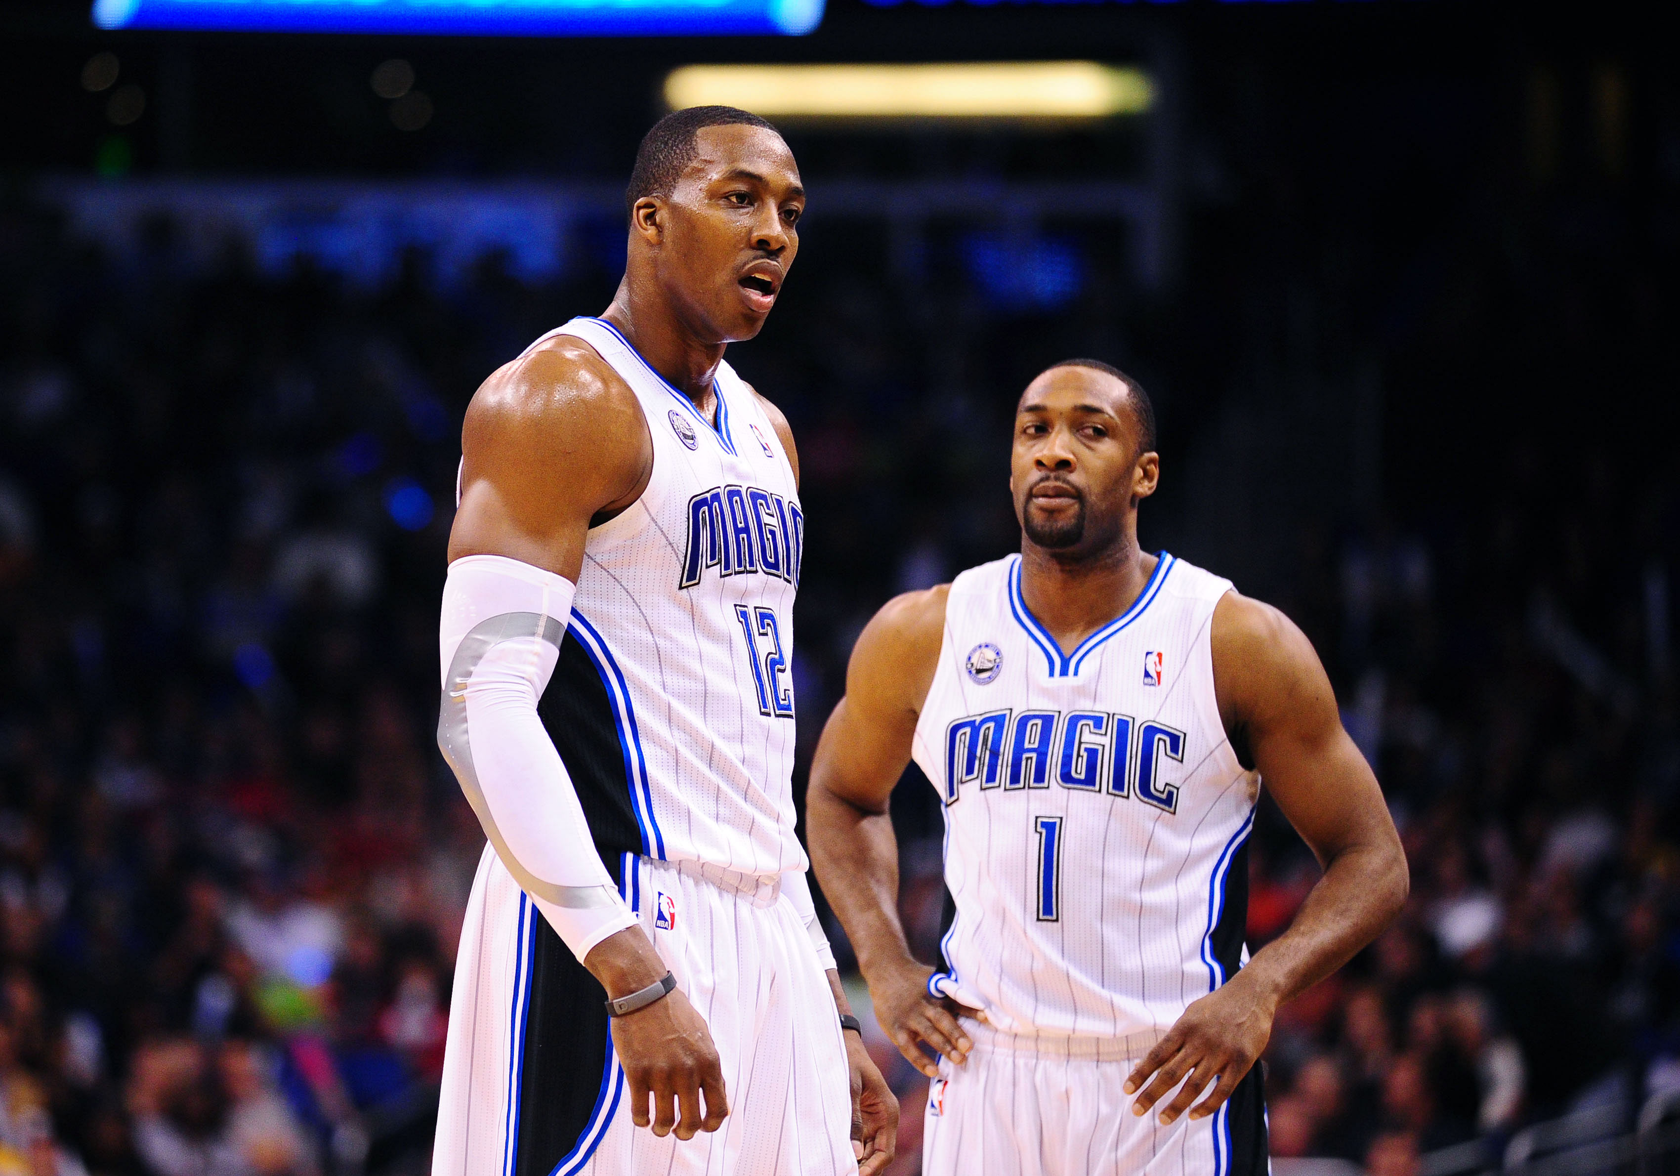
[[[1137,739],[1132,739],[1132,732]],[[1139,724],[1104,711],[990,711],[946,727],[944,803],[963,785],[1025,791],[1050,781],[1070,791],[1137,800],[1178,811],[1178,785],[1161,778],[1163,759],[1184,763],[1184,732],[1164,722]],[[1136,786],[1134,786],[1136,785]]]

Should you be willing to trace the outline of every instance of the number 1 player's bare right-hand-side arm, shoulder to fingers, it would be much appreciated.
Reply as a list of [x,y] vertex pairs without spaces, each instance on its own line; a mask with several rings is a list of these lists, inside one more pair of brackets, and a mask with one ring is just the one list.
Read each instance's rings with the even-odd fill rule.
[[[1324,867],[1289,931],[1223,988],[1193,1003],[1126,1080],[1146,1080],[1147,1114],[1191,1074],[1163,1112],[1213,1114],[1260,1057],[1278,1005],[1347,963],[1406,900],[1406,855],[1371,766],[1342,729],[1336,696],[1305,635],[1275,608],[1226,593],[1213,612],[1213,679],[1231,741],[1247,748],[1284,816]],[[1152,1080],[1151,1080],[1151,1075]]]

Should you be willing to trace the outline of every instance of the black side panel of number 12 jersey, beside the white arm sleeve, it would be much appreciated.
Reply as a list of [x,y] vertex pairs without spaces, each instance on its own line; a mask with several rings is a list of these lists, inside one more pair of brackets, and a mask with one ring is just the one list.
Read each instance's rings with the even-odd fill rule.
[[642,832],[630,806],[625,753],[606,684],[576,637],[559,643],[559,662],[536,709],[578,790],[595,848],[617,877],[620,853],[643,852]]

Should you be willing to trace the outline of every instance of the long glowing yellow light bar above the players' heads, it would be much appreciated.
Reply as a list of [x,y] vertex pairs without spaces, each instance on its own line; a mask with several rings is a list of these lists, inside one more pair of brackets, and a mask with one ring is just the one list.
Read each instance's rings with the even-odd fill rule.
[[684,66],[665,102],[739,106],[766,118],[1048,118],[1142,114],[1141,69],[1094,60],[927,66]]

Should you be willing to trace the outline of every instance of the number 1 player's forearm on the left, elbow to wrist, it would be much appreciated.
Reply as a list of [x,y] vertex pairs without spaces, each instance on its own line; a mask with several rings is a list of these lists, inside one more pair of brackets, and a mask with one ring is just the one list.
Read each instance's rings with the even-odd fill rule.
[[820,780],[806,796],[811,867],[867,978],[911,961],[899,922],[899,840],[887,813],[867,813]]

